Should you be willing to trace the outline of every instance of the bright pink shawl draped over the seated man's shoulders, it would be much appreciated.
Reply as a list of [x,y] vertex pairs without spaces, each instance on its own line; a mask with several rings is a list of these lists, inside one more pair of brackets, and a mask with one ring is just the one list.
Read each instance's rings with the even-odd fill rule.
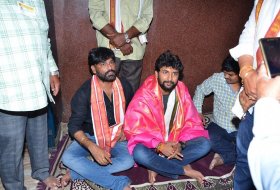
[[[168,141],[188,141],[196,137],[209,138],[208,132],[192,102],[187,87],[182,82],[176,86],[178,111]],[[128,150],[132,154],[136,144],[155,148],[164,142],[165,123],[162,93],[154,75],[148,77],[136,92],[125,114],[124,132]]]

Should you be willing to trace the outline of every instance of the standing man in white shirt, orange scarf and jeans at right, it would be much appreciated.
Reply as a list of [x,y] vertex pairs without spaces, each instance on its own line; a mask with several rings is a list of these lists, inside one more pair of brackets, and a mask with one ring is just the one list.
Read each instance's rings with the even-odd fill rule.
[[[252,128],[254,121],[253,105],[256,101],[257,66],[263,58],[258,41],[264,37],[279,36],[280,30],[280,0],[264,1],[255,0],[253,11],[239,38],[239,44],[230,50],[231,56],[238,60],[240,66],[239,76],[242,79],[244,90],[239,95],[239,101],[234,110],[241,110],[236,115],[246,113],[241,123],[236,138],[237,160],[234,175],[234,190],[251,190],[254,184],[251,178],[247,151],[253,138]],[[239,106],[238,106],[239,105]]]

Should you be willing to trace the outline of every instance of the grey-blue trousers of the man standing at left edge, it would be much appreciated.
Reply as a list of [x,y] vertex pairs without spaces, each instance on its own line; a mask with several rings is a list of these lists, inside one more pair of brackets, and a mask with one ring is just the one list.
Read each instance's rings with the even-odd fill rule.
[[25,189],[22,158],[25,137],[32,177],[43,181],[49,177],[47,110],[0,110],[0,177],[6,190]]

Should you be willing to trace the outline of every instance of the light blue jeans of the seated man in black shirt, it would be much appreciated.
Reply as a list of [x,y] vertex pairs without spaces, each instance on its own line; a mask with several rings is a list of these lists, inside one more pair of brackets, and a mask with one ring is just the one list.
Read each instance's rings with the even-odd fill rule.
[[[94,136],[89,136],[94,143]],[[70,169],[71,179],[87,179],[93,183],[108,189],[121,190],[130,184],[130,179],[126,176],[114,176],[113,173],[121,172],[134,165],[132,156],[128,153],[127,141],[117,142],[111,149],[112,164],[107,166],[99,165],[90,160],[90,152],[82,147],[77,141],[66,149],[62,156],[62,162]]]

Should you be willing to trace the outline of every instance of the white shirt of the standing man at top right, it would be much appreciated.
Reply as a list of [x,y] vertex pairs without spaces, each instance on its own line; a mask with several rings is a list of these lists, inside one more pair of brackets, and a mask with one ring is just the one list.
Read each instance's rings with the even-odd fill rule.
[[[249,20],[245,24],[245,29],[239,38],[239,44],[230,49],[231,56],[237,60],[242,55],[252,55],[254,57],[254,68],[257,67],[256,52],[259,47],[259,39],[263,38],[280,9],[280,0],[264,0],[256,24],[255,10],[258,0],[255,0],[254,9]],[[280,33],[278,33],[280,36]]]

